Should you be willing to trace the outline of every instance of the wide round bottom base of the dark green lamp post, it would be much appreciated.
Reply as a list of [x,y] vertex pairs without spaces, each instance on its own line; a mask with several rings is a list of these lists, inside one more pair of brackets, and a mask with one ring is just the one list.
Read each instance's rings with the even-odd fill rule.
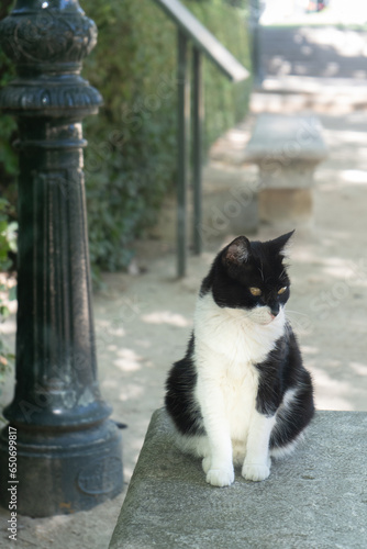
[[[88,511],[122,491],[121,437],[113,422],[86,430],[18,429],[16,478],[10,479],[8,427],[0,439],[1,506],[32,517]],[[16,481],[16,482],[15,482]]]

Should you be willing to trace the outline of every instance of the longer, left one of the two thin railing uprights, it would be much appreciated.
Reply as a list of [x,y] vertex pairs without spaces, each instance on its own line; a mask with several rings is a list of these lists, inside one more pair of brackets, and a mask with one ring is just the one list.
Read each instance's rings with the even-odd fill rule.
[[177,250],[178,277],[185,277],[187,264],[187,141],[190,116],[188,41],[178,30],[178,138],[177,138]]

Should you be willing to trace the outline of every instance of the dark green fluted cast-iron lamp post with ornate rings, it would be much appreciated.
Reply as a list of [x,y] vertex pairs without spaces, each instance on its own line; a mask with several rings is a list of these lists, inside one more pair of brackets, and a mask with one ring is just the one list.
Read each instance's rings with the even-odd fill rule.
[[98,383],[82,172],[81,121],[102,101],[80,77],[97,29],[77,0],[18,0],[0,41],[18,71],[0,109],[20,135],[16,385],[0,503],[14,485],[16,512],[41,517],[88,509],[123,485],[121,436]]

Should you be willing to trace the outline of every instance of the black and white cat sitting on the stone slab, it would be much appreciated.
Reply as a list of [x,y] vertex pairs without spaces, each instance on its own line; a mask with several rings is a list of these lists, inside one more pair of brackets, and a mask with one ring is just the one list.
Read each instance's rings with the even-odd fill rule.
[[168,376],[166,410],[184,451],[202,457],[207,482],[226,486],[270,473],[314,413],[313,389],[285,315],[285,247],[238,236],[202,281],[193,332]]

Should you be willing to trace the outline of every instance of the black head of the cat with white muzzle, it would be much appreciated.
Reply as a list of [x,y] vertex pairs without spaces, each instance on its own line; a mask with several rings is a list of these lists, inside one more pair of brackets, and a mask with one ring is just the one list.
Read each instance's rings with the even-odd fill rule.
[[219,306],[242,309],[257,324],[271,323],[289,299],[283,260],[292,234],[264,243],[238,236],[216,256],[201,294],[211,290]]

